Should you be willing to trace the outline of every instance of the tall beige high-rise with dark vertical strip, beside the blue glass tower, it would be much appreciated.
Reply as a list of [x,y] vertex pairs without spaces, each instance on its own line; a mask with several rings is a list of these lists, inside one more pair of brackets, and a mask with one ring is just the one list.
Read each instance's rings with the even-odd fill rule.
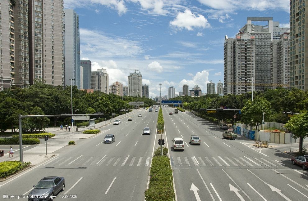
[[29,83],[44,80],[46,84],[64,86],[63,0],[28,2]]

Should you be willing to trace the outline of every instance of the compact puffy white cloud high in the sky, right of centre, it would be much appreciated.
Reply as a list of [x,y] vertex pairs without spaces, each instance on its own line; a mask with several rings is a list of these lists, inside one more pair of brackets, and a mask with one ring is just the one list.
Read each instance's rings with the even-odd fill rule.
[[208,28],[211,26],[203,15],[198,14],[196,16],[188,9],[186,9],[183,13],[179,12],[177,17],[170,22],[170,25],[177,27],[178,29],[185,28],[190,31],[194,29],[193,27]]

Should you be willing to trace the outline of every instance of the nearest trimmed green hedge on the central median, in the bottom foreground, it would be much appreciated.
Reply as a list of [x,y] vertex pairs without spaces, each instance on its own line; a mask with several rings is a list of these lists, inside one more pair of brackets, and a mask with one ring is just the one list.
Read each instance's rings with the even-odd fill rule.
[[170,159],[166,156],[154,156],[150,170],[149,189],[145,191],[145,200],[175,200],[172,181],[173,177],[172,170],[170,168]]

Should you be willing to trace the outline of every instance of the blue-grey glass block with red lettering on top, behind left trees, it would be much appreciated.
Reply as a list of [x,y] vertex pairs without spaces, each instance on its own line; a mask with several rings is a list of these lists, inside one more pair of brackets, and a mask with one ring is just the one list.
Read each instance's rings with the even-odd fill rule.
[[92,62],[90,60],[80,60],[80,76],[81,89],[92,89]]

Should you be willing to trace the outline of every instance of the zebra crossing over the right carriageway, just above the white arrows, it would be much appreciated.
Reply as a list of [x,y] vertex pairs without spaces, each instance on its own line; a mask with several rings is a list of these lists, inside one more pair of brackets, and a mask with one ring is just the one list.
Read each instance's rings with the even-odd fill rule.
[[171,157],[171,164],[176,168],[283,168],[282,161],[255,157]]

